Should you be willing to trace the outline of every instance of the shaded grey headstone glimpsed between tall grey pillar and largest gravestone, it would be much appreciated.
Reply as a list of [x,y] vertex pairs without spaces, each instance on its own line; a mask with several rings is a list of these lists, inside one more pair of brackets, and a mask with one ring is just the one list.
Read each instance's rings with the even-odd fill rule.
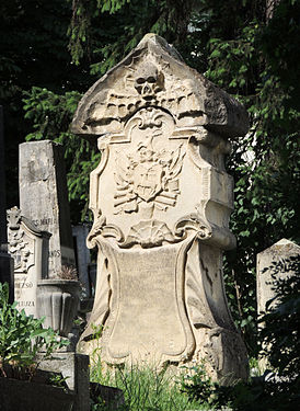
[[88,227],[86,225],[72,226],[78,277],[85,290],[86,298],[91,296],[91,284],[89,279],[91,256],[90,250],[86,247],[86,238],[90,229],[91,227]]

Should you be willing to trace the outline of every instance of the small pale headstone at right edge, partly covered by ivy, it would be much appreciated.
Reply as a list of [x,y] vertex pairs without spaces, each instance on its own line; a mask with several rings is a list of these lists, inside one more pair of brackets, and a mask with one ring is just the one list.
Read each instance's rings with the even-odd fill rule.
[[[274,264],[287,261],[291,256],[299,254],[300,247],[286,239],[281,239],[257,254],[256,286],[258,316],[266,311],[267,301],[276,297],[274,290],[275,278],[273,277]],[[293,274],[290,271],[282,271],[277,274],[276,279],[285,279]],[[274,304],[276,304],[276,300],[273,301]]]

